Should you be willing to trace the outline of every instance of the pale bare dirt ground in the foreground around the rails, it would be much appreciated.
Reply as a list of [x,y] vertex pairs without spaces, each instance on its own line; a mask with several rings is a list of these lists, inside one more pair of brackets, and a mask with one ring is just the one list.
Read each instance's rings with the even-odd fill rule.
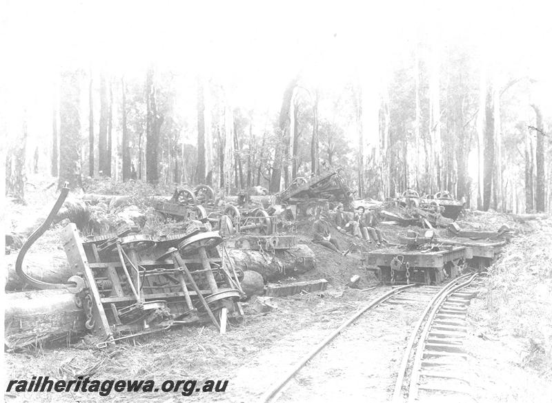
[[[28,206],[8,203],[5,218],[11,227],[30,216],[46,216],[57,194],[54,189],[37,183],[30,187]],[[43,194],[43,196],[40,196]],[[46,213],[46,214],[45,214]],[[477,227],[477,219],[497,229],[503,220],[493,216],[471,217],[465,220]],[[466,221],[464,221],[466,222]],[[511,225],[516,225],[511,223]],[[531,224],[535,226],[535,224]],[[523,228],[520,237],[528,237],[531,225]],[[495,227],[495,228],[494,228]],[[35,247],[39,251],[61,249],[58,225],[43,236]],[[213,327],[183,327],[162,334],[139,338],[128,343],[97,351],[80,342],[72,347],[35,349],[22,353],[5,353],[7,379],[30,379],[32,375],[48,375],[55,379],[72,379],[77,375],[93,379],[155,380],[228,380],[226,393],[195,393],[186,400],[207,402],[250,402],[260,395],[274,380],[313,345],[350,317],[359,307],[384,292],[384,287],[360,291],[345,287],[351,276],[361,276],[361,288],[376,285],[371,272],[362,268],[359,245],[362,241],[335,234],[342,249],[352,247],[346,257],[313,244],[307,227],[300,228],[297,237],[315,252],[317,267],[300,278],[310,280],[326,278],[328,289],[285,298],[272,298],[274,307],[268,313],[256,313],[245,304],[246,316],[231,322],[228,333],[219,335]],[[391,242],[404,227],[382,225],[384,236]],[[529,235],[530,236],[530,235]],[[375,249],[364,244],[365,249]],[[62,252],[63,253],[63,252]],[[505,254],[509,253],[506,249]],[[482,297],[483,298],[483,297]],[[252,303],[252,302],[249,302]],[[477,374],[477,400],[480,402],[551,402],[550,371],[531,369],[524,364],[526,343],[513,335],[502,335],[489,330],[491,313],[484,299],[473,300],[472,331],[469,336],[469,353],[473,357],[473,371]],[[362,384],[351,401],[364,395],[370,401],[384,402],[389,397],[389,385],[395,366],[402,357],[408,331],[415,322],[415,307],[401,311],[391,304],[374,311],[373,316],[359,320],[350,333],[344,333],[331,347],[308,365],[305,373],[290,383],[282,393],[281,401],[339,400],[347,394],[339,391],[354,390]],[[472,309],[471,309],[472,310]],[[340,336],[341,337],[341,336]],[[343,356],[332,356],[335,351],[346,351]],[[354,373],[353,360],[362,360],[362,371]],[[357,364],[358,365],[358,364]],[[77,372],[75,369],[79,369]],[[317,379],[329,380],[317,387]],[[547,383],[548,381],[548,383]],[[96,393],[8,393],[7,402],[177,402],[180,393],[111,393],[100,397]]]

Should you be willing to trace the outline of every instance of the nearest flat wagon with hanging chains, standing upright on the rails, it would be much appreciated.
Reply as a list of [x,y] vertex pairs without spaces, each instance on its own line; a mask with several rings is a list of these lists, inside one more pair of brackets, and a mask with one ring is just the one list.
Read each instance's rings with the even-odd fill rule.
[[362,254],[368,270],[376,272],[384,284],[420,282],[440,284],[445,278],[456,278],[472,258],[471,249],[464,246],[432,248],[429,251],[378,249]]

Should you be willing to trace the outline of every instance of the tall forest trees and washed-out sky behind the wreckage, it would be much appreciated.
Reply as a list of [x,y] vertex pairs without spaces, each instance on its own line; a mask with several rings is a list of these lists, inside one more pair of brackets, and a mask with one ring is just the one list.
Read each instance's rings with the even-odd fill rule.
[[552,211],[544,3],[361,4],[7,1],[6,194],[30,174],[275,193],[340,165],[357,198]]

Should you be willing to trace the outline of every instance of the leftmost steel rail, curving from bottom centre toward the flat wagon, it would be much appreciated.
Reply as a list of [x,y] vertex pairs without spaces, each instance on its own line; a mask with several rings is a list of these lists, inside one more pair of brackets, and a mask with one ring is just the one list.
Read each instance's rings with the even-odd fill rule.
[[303,368],[303,366],[308,362],[310,361],[315,355],[317,355],[317,353],[319,353],[319,351],[321,351],[324,347],[326,347],[327,344],[329,344],[337,335],[339,335],[339,333],[341,333],[346,327],[348,327],[351,323],[355,322],[355,320],[357,320],[360,316],[362,316],[362,314],[366,311],[368,311],[368,309],[371,309],[375,306],[377,306],[378,304],[381,304],[382,302],[384,302],[385,300],[387,300],[388,298],[391,298],[392,296],[396,295],[397,293],[400,293],[408,288],[411,288],[415,286],[415,284],[410,284],[410,285],[403,285],[403,286],[400,286],[400,287],[397,287],[387,293],[384,293],[384,295],[378,297],[378,298],[375,298],[374,300],[372,300],[369,304],[367,304],[365,307],[359,309],[359,311],[357,311],[357,313],[355,313],[353,316],[351,316],[351,318],[348,318],[348,320],[346,320],[345,322],[343,322],[341,324],[341,326],[339,326],[337,329],[335,329],[334,331],[332,331],[330,334],[328,334],[326,336],[326,338],[324,338],[324,340],[322,340],[322,342],[319,342],[319,344],[317,344],[309,353],[307,353],[306,355],[304,355],[304,357],[299,360],[299,362],[297,362],[292,369],[290,369],[290,371],[288,371],[286,373],[286,375],[284,375],[282,377],[281,380],[279,380],[277,383],[273,384],[273,386],[270,386],[270,389],[268,389],[268,391],[266,391],[261,399],[259,400],[259,402],[263,402],[263,403],[266,403],[266,402],[270,402],[270,400],[272,400],[272,398],[276,395],[276,393],[278,393],[280,390],[282,390],[282,388],[289,382],[289,380],[291,378],[293,378],[293,376],[300,370]]

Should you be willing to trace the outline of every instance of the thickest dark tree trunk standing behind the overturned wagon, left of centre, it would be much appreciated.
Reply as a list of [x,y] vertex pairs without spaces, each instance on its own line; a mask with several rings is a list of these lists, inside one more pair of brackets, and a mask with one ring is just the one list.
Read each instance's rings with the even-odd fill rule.
[[159,148],[159,121],[157,104],[155,102],[155,82],[153,66],[146,74],[146,180],[148,183],[159,182],[159,168],[157,167],[157,151]]

